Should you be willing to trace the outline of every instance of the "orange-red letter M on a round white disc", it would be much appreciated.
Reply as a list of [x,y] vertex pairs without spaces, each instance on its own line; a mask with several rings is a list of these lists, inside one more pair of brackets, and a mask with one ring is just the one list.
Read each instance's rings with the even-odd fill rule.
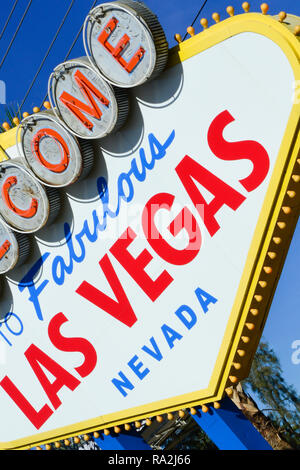
[[102,95],[102,93],[97,90],[97,88],[79,70],[75,72],[74,79],[81,93],[88,100],[90,106],[78,100],[77,98],[74,98],[74,96],[70,95],[66,91],[61,94],[59,99],[69,109],[69,111],[71,111],[71,113],[73,113],[74,116],[91,131],[94,125],[87,119],[82,111],[96,119],[101,119],[102,112],[93,98],[93,95],[98,98],[98,100],[101,101],[101,103],[103,103],[106,107],[109,106],[109,100],[105,98],[105,96]]

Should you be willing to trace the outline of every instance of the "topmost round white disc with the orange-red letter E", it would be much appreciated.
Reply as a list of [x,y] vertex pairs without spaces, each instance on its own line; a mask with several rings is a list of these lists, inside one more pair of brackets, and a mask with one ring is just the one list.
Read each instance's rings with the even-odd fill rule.
[[83,34],[91,62],[115,86],[141,85],[166,65],[163,29],[142,3],[120,0],[98,5],[88,15]]

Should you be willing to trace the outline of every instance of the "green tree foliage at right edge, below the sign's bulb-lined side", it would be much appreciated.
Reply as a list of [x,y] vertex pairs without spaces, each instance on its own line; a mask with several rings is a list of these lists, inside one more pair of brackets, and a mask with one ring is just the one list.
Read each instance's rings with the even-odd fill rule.
[[278,357],[262,340],[244,386],[250,387],[265,405],[262,411],[269,416],[282,437],[300,449],[300,397],[283,378]]

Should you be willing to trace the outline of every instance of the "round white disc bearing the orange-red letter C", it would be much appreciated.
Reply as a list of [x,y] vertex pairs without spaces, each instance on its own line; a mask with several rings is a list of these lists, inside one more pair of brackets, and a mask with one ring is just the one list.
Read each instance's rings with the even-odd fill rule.
[[20,233],[33,233],[46,224],[47,194],[25,168],[2,162],[0,192],[0,216],[9,227]]

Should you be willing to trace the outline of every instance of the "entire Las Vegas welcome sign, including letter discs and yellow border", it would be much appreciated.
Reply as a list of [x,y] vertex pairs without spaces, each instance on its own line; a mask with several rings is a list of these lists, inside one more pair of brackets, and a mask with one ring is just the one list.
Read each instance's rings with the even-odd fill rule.
[[11,166],[35,178],[56,218],[29,230],[30,254],[3,282],[2,448],[221,399],[247,375],[295,225],[297,38],[262,15],[229,18],[171,50],[161,73],[150,20],[128,51],[132,5],[105,5],[86,23],[92,65],[54,72],[56,116],[27,118],[6,148],[5,210],[32,220],[39,207],[13,192],[18,181],[7,187]]

